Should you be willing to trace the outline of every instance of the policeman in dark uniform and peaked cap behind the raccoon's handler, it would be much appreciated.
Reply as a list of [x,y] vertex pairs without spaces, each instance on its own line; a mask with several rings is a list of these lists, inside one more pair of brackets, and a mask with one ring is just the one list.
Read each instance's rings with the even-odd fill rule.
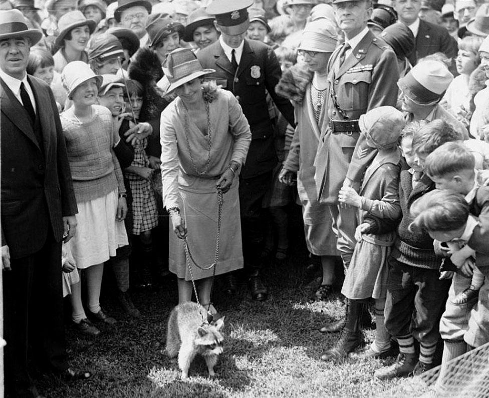
[[[274,51],[261,42],[244,39],[250,25],[247,8],[252,5],[253,0],[214,0],[206,12],[215,15],[214,24],[221,36],[200,50],[197,58],[203,68],[215,69],[208,79],[216,80],[236,96],[250,123],[252,143],[239,180],[244,268],[251,275],[253,298],[265,300],[267,288],[259,277],[266,222],[262,217],[262,200],[277,164],[267,91],[287,121],[293,126],[295,122],[291,103],[275,93],[281,70]],[[230,292],[235,289],[232,278],[228,285]]]

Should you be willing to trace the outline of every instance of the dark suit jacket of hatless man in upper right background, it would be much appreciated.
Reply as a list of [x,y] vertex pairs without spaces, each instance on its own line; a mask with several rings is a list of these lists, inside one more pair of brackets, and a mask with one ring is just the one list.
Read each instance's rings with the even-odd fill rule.
[[[456,58],[458,46],[448,31],[438,25],[419,20],[419,29],[416,36],[416,47],[409,56],[411,65],[416,65],[417,60],[437,52],[445,54],[448,58]],[[455,64],[452,62],[450,72],[458,75]]]

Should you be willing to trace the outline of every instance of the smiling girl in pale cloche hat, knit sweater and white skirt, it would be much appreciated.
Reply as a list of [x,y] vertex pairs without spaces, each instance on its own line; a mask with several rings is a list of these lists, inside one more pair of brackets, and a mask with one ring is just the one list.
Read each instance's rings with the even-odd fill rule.
[[[95,105],[102,78],[80,61],[68,64],[62,74],[63,86],[73,107],[61,114],[68,159],[77,199],[78,226],[70,241],[79,270],[86,276],[88,310],[93,320],[113,324],[100,307],[103,264],[116,249],[128,244],[124,217],[126,191],[119,162],[114,154],[112,115]],[[72,286],[73,321],[81,332],[97,335],[99,330],[87,319],[81,299],[81,283]]]

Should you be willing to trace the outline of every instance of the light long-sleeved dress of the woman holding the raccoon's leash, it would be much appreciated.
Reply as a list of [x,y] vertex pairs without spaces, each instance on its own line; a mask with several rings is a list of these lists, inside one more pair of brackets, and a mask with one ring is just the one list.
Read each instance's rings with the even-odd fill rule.
[[[201,267],[214,262],[218,209],[215,184],[231,161],[244,163],[251,142],[250,126],[232,93],[217,89],[209,103],[209,115],[210,156],[209,135],[204,135],[188,117],[180,98],[165,108],[160,123],[163,203],[167,209],[180,209],[192,257]],[[203,171],[206,173],[200,175]],[[223,195],[216,275],[243,267],[238,186],[236,173],[231,188]],[[169,269],[178,278],[191,280],[183,240],[177,238],[171,225]],[[195,266],[191,271],[194,279],[212,276],[212,272]]]

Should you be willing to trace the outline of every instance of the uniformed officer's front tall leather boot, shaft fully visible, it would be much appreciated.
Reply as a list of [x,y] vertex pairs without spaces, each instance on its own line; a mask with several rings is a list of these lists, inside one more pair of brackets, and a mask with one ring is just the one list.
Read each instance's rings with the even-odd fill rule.
[[321,356],[321,360],[344,359],[355,348],[364,344],[363,335],[360,331],[360,314],[363,306],[364,304],[357,300],[348,300],[345,327],[341,331],[335,346],[327,350]]

